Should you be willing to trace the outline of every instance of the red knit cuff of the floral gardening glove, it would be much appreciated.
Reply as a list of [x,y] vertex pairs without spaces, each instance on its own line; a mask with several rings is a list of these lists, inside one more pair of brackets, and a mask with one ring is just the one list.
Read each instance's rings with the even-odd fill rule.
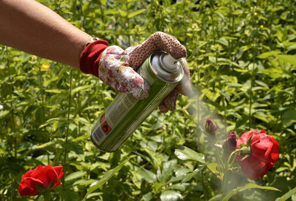
[[85,74],[93,74],[99,77],[99,62],[103,51],[108,47],[106,40],[96,40],[89,45],[81,53],[79,68]]

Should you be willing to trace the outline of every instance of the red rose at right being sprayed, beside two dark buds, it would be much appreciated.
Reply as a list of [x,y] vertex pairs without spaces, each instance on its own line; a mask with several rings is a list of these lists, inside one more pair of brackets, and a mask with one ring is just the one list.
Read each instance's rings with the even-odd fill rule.
[[267,171],[279,159],[279,143],[262,129],[260,133],[256,130],[242,134],[237,140],[236,149],[239,149],[241,143],[247,144],[250,137],[252,137],[250,156],[241,161],[243,156],[238,155],[237,159],[243,173],[248,178],[256,180],[258,177],[262,178],[267,174]]

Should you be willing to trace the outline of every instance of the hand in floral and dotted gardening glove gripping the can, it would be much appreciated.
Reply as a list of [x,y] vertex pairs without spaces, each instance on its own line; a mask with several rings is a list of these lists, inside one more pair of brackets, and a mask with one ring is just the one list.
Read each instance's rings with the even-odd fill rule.
[[[186,49],[173,36],[162,32],[156,32],[150,35],[142,44],[129,47],[126,50],[123,50],[116,45],[105,47],[106,49],[101,53],[101,57],[97,59],[92,59],[96,56],[94,53],[91,55],[91,49],[94,49],[92,44],[95,45],[96,41],[93,43],[90,43],[90,47],[87,46],[82,52],[80,69],[83,72],[88,73],[83,66],[93,62],[95,66],[99,66],[99,69],[97,72],[94,71],[89,73],[99,77],[104,83],[110,85],[115,90],[131,93],[137,99],[147,98],[150,90],[149,84],[136,71],[141,67],[150,54],[157,50],[163,50],[175,59],[180,59],[184,69],[184,78],[159,105],[160,111],[167,112],[168,110],[175,110],[179,93],[186,96],[191,92],[190,72],[185,60]],[[88,61],[84,62],[83,60]]]

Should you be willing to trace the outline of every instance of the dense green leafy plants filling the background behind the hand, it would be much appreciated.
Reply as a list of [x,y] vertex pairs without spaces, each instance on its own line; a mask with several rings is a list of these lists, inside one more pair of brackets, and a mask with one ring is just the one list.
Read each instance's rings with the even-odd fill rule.
[[[279,161],[256,184],[281,192],[242,191],[238,186],[249,181],[236,168],[228,173],[227,190],[239,192],[231,201],[273,201],[295,188],[295,0],[39,2],[123,49],[156,31],[172,34],[187,48],[198,96],[180,96],[167,114],[155,110],[119,151],[104,153],[90,142],[89,129],[117,92],[76,69],[0,46],[0,200],[35,199],[19,195],[21,177],[51,164],[65,172],[51,200],[82,201],[93,182],[130,158],[85,201],[208,201],[221,193],[212,174],[219,173],[215,147],[201,130],[209,117],[218,124],[219,144],[229,131],[255,129],[280,144]],[[188,147],[189,155],[176,151],[193,161],[179,160],[176,145]],[[199,170],[200,163],[208,168]],[[288,201],[295,201],[292,194]]]

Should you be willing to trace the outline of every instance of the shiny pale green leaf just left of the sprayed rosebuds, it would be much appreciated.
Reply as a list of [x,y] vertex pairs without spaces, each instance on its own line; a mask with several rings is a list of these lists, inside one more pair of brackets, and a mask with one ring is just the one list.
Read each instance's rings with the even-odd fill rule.
[[202,164],[205,164],[205,156],[201,153],[197,153],[193,151],[192,149],[189,149],[185,146],[177,145],[179,149],[175,149],[175,155],[185,161],[185,160],[195,160]]

